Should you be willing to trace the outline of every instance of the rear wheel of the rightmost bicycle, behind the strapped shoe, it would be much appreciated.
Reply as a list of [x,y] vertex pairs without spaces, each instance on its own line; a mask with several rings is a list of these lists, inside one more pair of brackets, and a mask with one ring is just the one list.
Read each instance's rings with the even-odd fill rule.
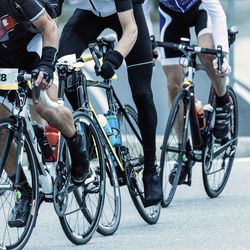
[[217,197],[226,186],[238,142],[237,99],[231,87],[228,87],[227,91],[232,101],[229,136],[226,140],[217,140],[210,134],[202,162],[203,184],[211,198]]

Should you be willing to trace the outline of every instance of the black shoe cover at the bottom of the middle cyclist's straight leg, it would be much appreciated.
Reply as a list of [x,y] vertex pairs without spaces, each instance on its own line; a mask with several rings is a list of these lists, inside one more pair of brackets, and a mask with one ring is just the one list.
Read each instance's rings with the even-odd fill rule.
[[145,195],[144,207],[157,205],[162,200],[163,192],[156,166],[144,168],[143,184]]

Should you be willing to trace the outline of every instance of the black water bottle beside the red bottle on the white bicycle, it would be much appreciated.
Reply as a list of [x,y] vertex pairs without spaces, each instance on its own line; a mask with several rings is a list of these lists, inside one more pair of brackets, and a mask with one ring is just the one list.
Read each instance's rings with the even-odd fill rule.
[[49,145],[43,126],[36,122],[33,122],[32,126],[34,128],[37,142],[41,148],[44,159],[50,158],[53,155],[53,151]]

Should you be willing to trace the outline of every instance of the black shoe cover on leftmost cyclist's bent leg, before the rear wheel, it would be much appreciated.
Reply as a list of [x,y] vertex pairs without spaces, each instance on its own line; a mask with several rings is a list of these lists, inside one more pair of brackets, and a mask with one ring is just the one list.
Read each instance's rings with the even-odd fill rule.
[[78,131],[73,138],[66,138],[69,146],[72,169],[71,179],[75,186],[82,186],[91,176],[85,135]]

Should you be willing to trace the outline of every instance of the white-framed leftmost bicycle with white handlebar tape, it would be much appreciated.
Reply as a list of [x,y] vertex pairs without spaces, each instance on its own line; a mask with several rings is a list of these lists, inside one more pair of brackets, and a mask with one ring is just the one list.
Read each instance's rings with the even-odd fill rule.
[[[71,159],[62,135],[59,139],[58,159],[54,162],[45,161],[46,157],[38,143],[38,135],[29,112],[31,99],[28,98],[30,80],[36,79],[37,72],[31,75],[25,72],[18,73],[15,69],[13,74],[6,73],[7,79],[12,77],[12,80],[17,79],[18,82],[15,90],[11,91],[15,95],[12,114],[9,118],[0,119],[0,135],[3,142],[0,148],[0,244],[7,249],[23,248],[36,225],[38,210],[43,201],[54,204],[55,212],[68,239],[74,244],[85,244],[98,226],[104,201],[105,165],[98,131],[92,119],[85,113],[74,113],[76,128],[88,131],[87,141],[91,139],[94,142],[88,145],[92,176],[82,187],[77,188],[71,183]],[[58,105],[63,105],[62,89],[63,86],[59,86],[58,104],[51,102],[46,97],[45,91],[41,91],[41,98],[47,106],[57,108]],[[35,88],[35,94],[38,102],[38,87]],[[14,147],[15,155],[12,150]],[[93,158],[92,155],[96,157]],[[14,183],[5,172],[5,168],[8,167],[8,157],[16,157]],[[26,225],[17,228],[8,224],[8,217],[15,201],[21,195],[19,191],[21,169],[32,188],[32,199]]]

